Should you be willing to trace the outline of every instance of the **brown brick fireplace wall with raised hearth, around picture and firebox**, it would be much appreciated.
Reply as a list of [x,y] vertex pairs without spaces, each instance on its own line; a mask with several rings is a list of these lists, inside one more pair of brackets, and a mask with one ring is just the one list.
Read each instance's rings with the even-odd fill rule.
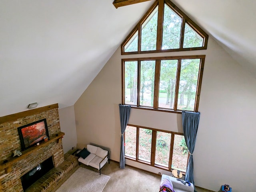
[[[22,116],[24,115],[24,116]],[[15,117],[18,117],[15,119]],[[46,118],[50,138],[60,134],[60,121],[58,104],[21,112],[11,116],[0,117],[0,191],[22,192],[20,177],[26,172],[42,163],[50,156],[53,157],[54,168],[38,182],[34,183],[28,191],[50,191],[66,174],[77,165],[72,155],[64,161],[62,140],[49,142],[47,145],[38,146],[31,154],[26,154],[9,166],[9,171],[4,169],[3,161],[12,161],[12,152],[21,151],[18,127]],[[5,121],[6,120],[6,121]],[[26,153],[26,151],[24,151]],[[17,158],[17,157],[16,157]],[[9,163],[10,164],[10,163]]]

